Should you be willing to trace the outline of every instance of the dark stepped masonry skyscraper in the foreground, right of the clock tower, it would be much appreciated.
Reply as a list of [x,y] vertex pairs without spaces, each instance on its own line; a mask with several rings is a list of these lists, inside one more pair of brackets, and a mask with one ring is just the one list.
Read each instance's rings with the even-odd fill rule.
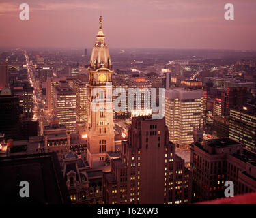
[[104,204],[190,203],[190,171],[175,155],[165,119],[132,118],[121,158],[103,175]]

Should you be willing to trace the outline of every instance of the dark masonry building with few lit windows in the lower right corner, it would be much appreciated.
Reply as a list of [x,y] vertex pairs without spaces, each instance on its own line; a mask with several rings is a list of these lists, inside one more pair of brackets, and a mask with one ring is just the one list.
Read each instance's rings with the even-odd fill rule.
[[255,166],[251,164],[255,158],[255,153],[230,138],[193,143],[190,159],[193,202],[225,197],[225,181],[233,182],[235,195],[256,191]]

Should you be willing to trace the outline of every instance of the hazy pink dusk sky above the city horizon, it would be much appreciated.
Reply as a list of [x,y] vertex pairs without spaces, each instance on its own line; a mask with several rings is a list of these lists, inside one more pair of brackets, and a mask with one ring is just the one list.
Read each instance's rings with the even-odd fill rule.
[[109,48],[256,50],[255,0],[0,0],[0,46],[91,48],[100,16]]

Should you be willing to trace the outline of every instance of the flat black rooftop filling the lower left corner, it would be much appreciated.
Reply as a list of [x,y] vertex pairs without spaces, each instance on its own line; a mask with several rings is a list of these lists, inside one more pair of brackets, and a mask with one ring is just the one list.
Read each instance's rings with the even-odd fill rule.
[[[29,197],[20,197],[20,181]],[[0,193],[0,204],[71,204],[55,153],[0,157]]]

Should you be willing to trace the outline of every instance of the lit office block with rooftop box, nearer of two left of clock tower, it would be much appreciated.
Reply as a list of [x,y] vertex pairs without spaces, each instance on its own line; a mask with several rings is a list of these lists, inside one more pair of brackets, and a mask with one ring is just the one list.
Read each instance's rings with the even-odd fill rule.
[[53,89],[53,114],[59,118],[59,124],[66,126],[70,133],[76,129],[76,93],[68,86],[68,82],[59,81]]

